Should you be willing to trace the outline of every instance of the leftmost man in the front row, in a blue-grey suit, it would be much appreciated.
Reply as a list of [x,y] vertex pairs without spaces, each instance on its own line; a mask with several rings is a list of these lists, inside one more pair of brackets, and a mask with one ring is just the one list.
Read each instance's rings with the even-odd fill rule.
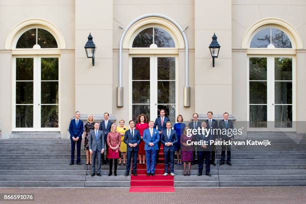
[[95,172],[95,154],[97,155],[97,171],[96,174],[101,176],[101,154],[104,152],[104,132],[99,130],[99,123],[94,122],[94,129],[89,132],[88,148],[92,155],[91,160],[91,176],[94,176]]

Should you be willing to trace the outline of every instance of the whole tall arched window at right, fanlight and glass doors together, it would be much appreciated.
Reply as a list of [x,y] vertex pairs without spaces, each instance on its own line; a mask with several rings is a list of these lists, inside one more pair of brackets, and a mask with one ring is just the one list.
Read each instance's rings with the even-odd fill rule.
[[263,25],[251,35],[247,80],[249,127],[293,128],[295,56],[292,34],[284,30],[279,25]]

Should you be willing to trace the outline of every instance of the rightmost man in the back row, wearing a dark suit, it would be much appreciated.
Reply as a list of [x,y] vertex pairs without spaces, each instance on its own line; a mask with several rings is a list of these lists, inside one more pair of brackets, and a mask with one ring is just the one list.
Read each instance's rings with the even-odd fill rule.
[[[223,118],[222,120],[220,120],[219,122],[219,128],[221,129],[221,135],[220,135],[220,140],[224,140],[224,141],[228,141],[228,140],[232,140],[233,139],[233,135],[232,136],[228,136],[227,132],[228,129],[233,129],[233,123],[231,120],[228,120],[228,112],[224,112],[223,113]],[[225,129],[226,131],[222,131],[223,129]],[[232,130],[230,130],[232,132]],[[225,160],[225,149],[227,149],[227,164],[231,165],[230,162],[230,145],[221,145],[221,160],[220,160],[220,165],[224,164],[224,160]]]

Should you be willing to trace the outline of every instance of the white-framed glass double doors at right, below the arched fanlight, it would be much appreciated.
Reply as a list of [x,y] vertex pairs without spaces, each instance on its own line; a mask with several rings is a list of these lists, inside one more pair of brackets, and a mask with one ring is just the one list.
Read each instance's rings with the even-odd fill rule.
[[293,56],[249,56],[249,127],[294,128],[295,79]]

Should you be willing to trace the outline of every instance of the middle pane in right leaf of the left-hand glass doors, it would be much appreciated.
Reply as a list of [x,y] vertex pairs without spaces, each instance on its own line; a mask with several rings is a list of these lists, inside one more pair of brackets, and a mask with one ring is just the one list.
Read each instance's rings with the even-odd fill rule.
[[58,104],[58,81],[41,81],[41,104]]

